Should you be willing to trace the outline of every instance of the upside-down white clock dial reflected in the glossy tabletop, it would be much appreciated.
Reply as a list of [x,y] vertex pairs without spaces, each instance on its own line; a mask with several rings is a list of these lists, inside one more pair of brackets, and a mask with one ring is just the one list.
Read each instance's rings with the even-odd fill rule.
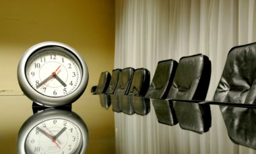
[[49,119],[28,134],[26,153],[78,153],[82,146],[79,128],[66,119]]

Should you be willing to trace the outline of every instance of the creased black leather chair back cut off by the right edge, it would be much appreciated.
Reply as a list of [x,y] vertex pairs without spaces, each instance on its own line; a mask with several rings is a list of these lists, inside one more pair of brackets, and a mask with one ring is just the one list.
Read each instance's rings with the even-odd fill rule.
[[230,50],[214,94],[216,102],[255,104],[256,43]]

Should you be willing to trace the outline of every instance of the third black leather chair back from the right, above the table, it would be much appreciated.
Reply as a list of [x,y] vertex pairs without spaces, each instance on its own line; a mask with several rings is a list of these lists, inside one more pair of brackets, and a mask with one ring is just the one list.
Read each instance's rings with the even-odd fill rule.
[[174,74],[176,72],[178,62],[175,60],[162,60],[158,62],[156,72],[146,93],[146,98],[166,98]]

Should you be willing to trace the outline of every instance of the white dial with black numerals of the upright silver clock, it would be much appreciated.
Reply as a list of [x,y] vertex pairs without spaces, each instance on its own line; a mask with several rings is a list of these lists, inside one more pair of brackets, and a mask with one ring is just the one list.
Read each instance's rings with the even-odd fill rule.
[[81,82],[82,66],[63,48],[43,48],[28,59],[25,68],[30,86],[40,94],[61,97]]

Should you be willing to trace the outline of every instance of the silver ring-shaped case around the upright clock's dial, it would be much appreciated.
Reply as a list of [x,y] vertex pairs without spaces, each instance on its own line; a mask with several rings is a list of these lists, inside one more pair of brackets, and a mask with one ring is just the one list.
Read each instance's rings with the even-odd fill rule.
[[[28,79],[26,77],[26,65],[27,61],[32,56],[33,54],[36,54],[38,50],[42,50],[43,48],[62,48],[65,50],[65,54],[68,54],[69,56],[73,57],[73,60],[79,64],[81,67],[81,73],[82,73],[82,78],[77,86],[77,88],[71,92],[70,94],[67,94],[65,96],[60,96],[60,97],[51,97],[51,96],[46,96],[44,94],[40,94],[37,92],[30,83],[28,82]],[[86,86],[88,84],[88,68],[86,65],[86,62],[84,62],[84,59],[82,56],[78,54],[78,52],[74,49],[71,48],[70,46],[67,46],[66,44],[62,44],[59,42],[42,42],[40,44],[36,44],[35,46],[32,46],[32,48],[28,49],[22,56],[19,64],[18,64],[18,82],[20,84],[20,88],[24,92],[30,100],[41,104],[43,106],[63,106],[65,104],[70,104],[72,102],[75,102],[86,90]]]

